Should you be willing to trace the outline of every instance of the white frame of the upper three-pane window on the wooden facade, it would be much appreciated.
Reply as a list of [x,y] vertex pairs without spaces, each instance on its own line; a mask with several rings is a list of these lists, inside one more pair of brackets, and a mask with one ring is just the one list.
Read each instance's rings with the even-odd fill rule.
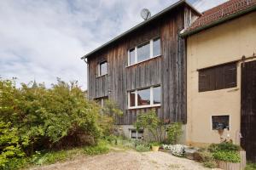
[[[156,40],[156,39],[160,39],[160,37],[155,37],[155,38],[153,38],[153,39],[151,39],[151,40],[148,41],[148,42],[149,42],[149,50],[150,50],[149,59],[153,59],[153,58],[159,57],[159,56],[161,55],[161,54],[158,54],[158,55],[155,55],[155,56],[153,55],[153,54],[154,54],[154,52],[153,52],[153,42],[154,42],[154,40]],[[148,59],[144,59],[144,60],[142,60],[142,61],[140,61],[140,62],[137,62],[137,48],[138,48],[139,46],[145,44],[145,43],[147,43],[147,42],[143,42],[143,43],[137,45],[136,47],[134,47],[135,63],[132,64],[132,65],[137,65],[137,64],[139,64],[139,63],[142,63],[142,62],[148,60]],[[161,48],[161,45],[160,45],[160,48]],[[131,64],[130,64],[130,51],[131,51],[131,49],[133,49],[133,48],[130,48],[130,49],[127,51],[128,66],[131,66]],[[161,50],[160,50],[160,51],[161,51]]]

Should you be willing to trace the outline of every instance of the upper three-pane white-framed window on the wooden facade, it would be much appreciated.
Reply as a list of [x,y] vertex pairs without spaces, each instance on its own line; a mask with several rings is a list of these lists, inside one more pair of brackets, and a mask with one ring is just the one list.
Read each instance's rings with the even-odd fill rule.
[[128,51],[128,66],[160,55],[160,38],[152,39]]

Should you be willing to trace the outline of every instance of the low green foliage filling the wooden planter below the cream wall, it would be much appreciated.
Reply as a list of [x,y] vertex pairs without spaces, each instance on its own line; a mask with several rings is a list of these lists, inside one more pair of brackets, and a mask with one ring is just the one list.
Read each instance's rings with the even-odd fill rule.
[[237,151],[220,150],[213,152],[212,156],[219,161],[240,162],[240,156]]

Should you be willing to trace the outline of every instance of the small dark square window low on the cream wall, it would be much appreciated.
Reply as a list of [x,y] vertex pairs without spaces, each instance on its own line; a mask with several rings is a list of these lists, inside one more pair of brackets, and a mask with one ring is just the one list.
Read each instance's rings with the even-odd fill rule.
[[212,130],[230,130],[230,116],[212,116]]

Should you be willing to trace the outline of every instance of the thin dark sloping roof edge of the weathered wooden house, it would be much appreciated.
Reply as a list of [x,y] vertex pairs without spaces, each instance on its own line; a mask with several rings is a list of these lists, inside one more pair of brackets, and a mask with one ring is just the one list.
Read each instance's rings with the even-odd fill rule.
[[99,48],[96,48],[95,50],[91,51],[89,54],[85,54],[81,59],[87,58],[90,55],[95,54],[97,51],[101,50],[102,48],[107,47],[108,45],[112,44],[113,42],[118,41],[119,39],[121,39],[122,37],[125,37],[126,35],[130,34],[131,32],[137,31],[137,29],[139,29],[143,26],[146,26],[149,22],[151,22],[153,20],[160,19],[160,17],[162,17],[164,14],[166,14],[167,12],[170,12],[173,8],[177,8],[178,6],[180,6],[182,4],[188,5],[189,8],[192,8],[195,11],[195,13],[201,15],[201,13],[197,9],[195,9],[190,3],[188,3],[186,0],[180,0],[177,3],[173,3],[168,8],[165,8],[164,10],[160,11],[158,14],[154,14],[148,20],[144,20],[143,22],[141,22],[137,26],[134,26],[130,30],[125,31],[124,33],[120,34],[118,37],[114,37],[112,40],[110,40],[109,42],[104,43],[102,46],[100,46]]

